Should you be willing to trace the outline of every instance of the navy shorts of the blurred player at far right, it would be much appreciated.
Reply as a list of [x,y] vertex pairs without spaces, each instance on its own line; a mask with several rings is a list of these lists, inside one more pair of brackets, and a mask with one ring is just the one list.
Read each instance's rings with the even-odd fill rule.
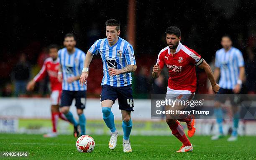
[[214,100],[219,101],[220,103],[225,103],[227,99],[230,100],[232,105],[237,104],[237,102],[234,102],[234,99],[237,99],[237,96],[232,89],[220,88]]

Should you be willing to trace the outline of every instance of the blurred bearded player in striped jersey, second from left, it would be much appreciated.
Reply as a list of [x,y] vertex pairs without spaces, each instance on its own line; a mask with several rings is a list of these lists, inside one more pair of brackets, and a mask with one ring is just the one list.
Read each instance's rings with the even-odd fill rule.
[[[58,51],[60,68],[58,79],[62,81],[61,112],[65,114],[69,122],[74,124],[74,137],[79,136],[77,126],[81,127],[81,134],[85,135],[86,119],[83,113],[85,108],[87,86],[80,86],[79,77],[84,66],[85,53],[75,48],[76,40],[73,33],[67,33],[64,37],[64,46]],[[69,111],[73,99],[76,100],[79,123]]]

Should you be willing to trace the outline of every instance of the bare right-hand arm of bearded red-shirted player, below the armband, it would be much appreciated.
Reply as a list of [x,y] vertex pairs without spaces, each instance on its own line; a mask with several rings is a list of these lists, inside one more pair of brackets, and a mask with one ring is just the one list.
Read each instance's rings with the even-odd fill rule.
[[213,73],[212,73],[212,70],[211,70],[211,67],[209,66],[208,63],[206,63],[206,61],[202,61],[201,64],[198,65],[198,67],[200,69],[204,69],[205,70],[205,73],[207,74],[207,77],[208,79],[210,80],[211,82],[211,85],[212,85],[212,90],[217,93],[220,89],[220,86],[216,83],[215,79],[214,79],[214,76],[213,76]]

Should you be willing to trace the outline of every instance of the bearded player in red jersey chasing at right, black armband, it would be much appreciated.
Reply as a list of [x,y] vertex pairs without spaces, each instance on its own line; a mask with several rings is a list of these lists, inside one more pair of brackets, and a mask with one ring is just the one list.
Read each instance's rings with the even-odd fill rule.
[[[216,84],[210,66],[201,58],[194,50],[182,45],[181,32],[177,27],[168,27],[166,29],[167,47],[162,49],[158,55],[156,65],[154,65],[152,76],[157,78],[164,65],[169,69],[169,80],[167,87],[168,99],[189,100],[196,91],[196,72],[195,66],[205,70],[211,84],[212,89],[216,93],[220,86]],[[166,106],[168,108],[169,106]],[[174,106],[184,109],[185,106]],[[188,127],[188,136],[192,137],[195,133],[195,118],[185,116],[179,121],[186,122]],[[166,115],[166,122],[172,130],[172,134],[182,142],[182,147],[177,152],[188,152],[193,150],[192,144],[189,142],[184,130],[179,122],[171,115]]]

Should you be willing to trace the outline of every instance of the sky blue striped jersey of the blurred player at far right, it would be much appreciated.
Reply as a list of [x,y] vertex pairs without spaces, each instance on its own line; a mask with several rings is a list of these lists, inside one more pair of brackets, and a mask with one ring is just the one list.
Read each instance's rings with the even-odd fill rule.
[[244,66],[243,55],[235,47],[225,52],[224,48],[216,51],[215,67],[220,68],[219,85],[224,89],[233,89],[239,79],[239,67]]

